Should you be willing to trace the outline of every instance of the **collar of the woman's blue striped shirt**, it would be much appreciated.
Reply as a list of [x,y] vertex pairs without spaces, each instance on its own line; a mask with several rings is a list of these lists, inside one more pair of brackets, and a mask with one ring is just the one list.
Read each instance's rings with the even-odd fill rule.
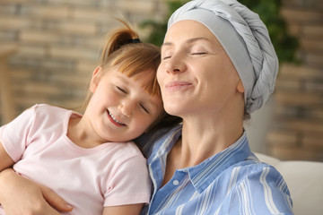
[[[152,164],[154,161],[159,160],[159,162],[162,162],[162,167],[165,167],[166,163],[164,162],[166,162],[167,154],[170,152],[175,142],[179,140],[181,131],[182,125],[177,125],[170,129],[169,132],[162,133],[162,138],[159,138],[158,141],[156,141],[156,139],[153,140],[153,153],[147,160],[148,164]],[[242,160],[248,159],[250,154],[249,142],[246,132],[244,132],[240,139],[231,144],[227,149],[215,154],[209,159],[205,159],[205,161],[194,167],[179,169],[179,171],[188,172],[192,185],[196,188],[198,193],[202,193],[208,185],[214,182],[214,179],[219,176],[223,170]],[[160,170],[163,171],[164,169]],[[163,176],[161,176],[161,180],[162,177]]]

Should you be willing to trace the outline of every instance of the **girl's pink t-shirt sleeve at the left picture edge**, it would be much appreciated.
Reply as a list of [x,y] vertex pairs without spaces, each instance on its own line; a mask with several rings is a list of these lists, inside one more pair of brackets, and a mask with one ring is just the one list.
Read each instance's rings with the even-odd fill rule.
[[22,158],[24,150],[29,145],[29,134],[35,108],[36,106],[25,110],[20,116],[13,119],[12,122],[0,127],[0,142],[14,162]]

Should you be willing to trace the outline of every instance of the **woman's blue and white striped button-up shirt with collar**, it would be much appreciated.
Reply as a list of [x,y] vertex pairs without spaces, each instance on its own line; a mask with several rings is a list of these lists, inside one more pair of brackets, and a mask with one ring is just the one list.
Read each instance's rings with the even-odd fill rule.
[[176,170],[162,186],[167,154],[180,135],[178,125],[139,140],[145,143],[153,180],[152,200],[142,215],[292,214],[292,199],[284,178],[256,158],[245,133],[228,149],[197,166]]

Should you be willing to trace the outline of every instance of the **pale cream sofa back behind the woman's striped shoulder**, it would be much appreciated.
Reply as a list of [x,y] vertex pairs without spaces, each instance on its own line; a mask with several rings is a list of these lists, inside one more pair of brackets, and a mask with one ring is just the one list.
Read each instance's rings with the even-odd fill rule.
[[255,154],[284,176],[295,215],[323,215],[323,162],[280,160],[262,153]]

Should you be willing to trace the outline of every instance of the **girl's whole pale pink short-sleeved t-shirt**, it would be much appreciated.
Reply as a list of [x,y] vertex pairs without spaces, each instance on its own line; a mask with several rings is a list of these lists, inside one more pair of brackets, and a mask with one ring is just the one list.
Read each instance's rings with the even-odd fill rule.
[[69,214],[99,215],[104,206],[149,202],[151,180],[135,143],[81,148],[66,136],[69,118],[77,115],[36,105],[2,126],[0,142],[16,162],[14,170],[53,189],[74,206]]

